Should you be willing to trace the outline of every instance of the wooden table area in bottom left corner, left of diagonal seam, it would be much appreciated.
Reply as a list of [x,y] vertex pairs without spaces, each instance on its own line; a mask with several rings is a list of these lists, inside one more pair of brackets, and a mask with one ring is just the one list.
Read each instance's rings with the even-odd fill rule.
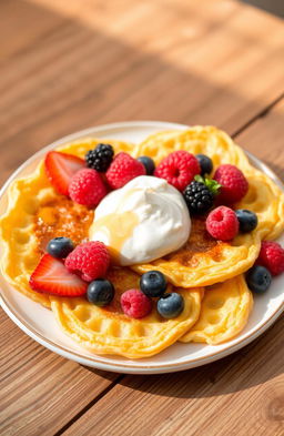
[[0,434],[52,435],[118,375],[92,372],[24,335],[0,311]]

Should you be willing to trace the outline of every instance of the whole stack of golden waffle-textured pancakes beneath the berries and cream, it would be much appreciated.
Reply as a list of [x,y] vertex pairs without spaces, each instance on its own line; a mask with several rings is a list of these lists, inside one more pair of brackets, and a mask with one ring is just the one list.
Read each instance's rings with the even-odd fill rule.
[[[59,150],[83,158],[99,142],[87,139]],[[149,264],[110,268],[108,278],[115,287],[115,298],[104,308],[82,297],[40,294],[29,286],[30,275],[42,254],[44,234],[40,231],[51,237],[72,239],[81,225],[85,231],[85,234],[82,230],[80,233],[83,239],[88,237],[88,225],[92,222],[90,211],[72,205],[54,191],[41,163],[33,174],[10,186],[8,211],[0,221],[4,276],[17,290],[50,307],[61,328],[93,353],[139,358],[154,355],[176,341],[220,344],[231,339],[244,328],[253,307],[244,273],[257,258],[261,241],[276,239],[284,230],[284,194],[267,175],[250,164],[230,136],[212,126],[161,132],[136,145],[112,140],[108,143],[115,153],[124,151],[134,158],[148,155],[155,164],[173,151],[186,150],[209,155],[214,169],[223,163],[236,165],[250,187],[235,209],[255,212],[257,227],[224,243],[206,233],[204,219],[193,217],[190,239],[179,251]],[[63,203],[73,225],[64,225],[52,212]],[[165,274],[169,290],[183,295],[185,308],[176,318],[162,318],[155,307],[142,320],[130,318],[121,311],[120,295],[138,287],[140,275],[150,270]]]

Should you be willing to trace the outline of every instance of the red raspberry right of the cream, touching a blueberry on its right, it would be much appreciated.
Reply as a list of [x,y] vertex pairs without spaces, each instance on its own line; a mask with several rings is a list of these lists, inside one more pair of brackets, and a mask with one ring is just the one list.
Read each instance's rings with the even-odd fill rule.
[[219,206],[210,212],[206,219],[206,229],[216,240],[230,241],[239,232],[239,221],[232,209]]

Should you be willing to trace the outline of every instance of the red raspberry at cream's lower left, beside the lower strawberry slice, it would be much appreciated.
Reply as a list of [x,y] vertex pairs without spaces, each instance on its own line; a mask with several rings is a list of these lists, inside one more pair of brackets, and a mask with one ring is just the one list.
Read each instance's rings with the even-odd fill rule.
[[65,258],[65,267],[79,273],[82,280],[91,282],[105,275],[110,254],[102,242],[85,242],[78,245]]

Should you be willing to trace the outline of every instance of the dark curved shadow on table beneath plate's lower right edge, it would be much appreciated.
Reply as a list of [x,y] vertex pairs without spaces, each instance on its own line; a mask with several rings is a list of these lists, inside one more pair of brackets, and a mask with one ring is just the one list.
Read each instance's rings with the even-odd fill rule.
[[[125,375],[122,379],[118,376],[119,383],[152,395],[178,398],[214,397],[250,389],[283,373],[283,349],[274,347],[275,337],[283,334],[283,327],[281,318],[252,344],[212,364],[172,374]],[[256,353],[257,359],[254,358]],[[272,356],[273,365],[270,365]],[[103,376],[113,379],[113,374]]]

